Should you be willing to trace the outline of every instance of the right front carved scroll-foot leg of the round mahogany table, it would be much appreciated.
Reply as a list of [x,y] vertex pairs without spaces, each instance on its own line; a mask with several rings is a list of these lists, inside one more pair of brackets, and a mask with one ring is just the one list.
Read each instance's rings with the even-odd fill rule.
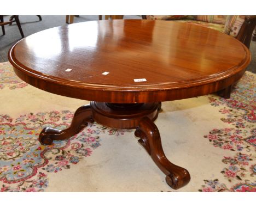
[[144,117],[135,131],[135,136],[140,137],[139,143],[147,150],[156,165],[166,175],[166,182],[173,189],[181,188],[190,181],[188,170],[172,164],[166,158],[162,149],[158,127],[147,117]]

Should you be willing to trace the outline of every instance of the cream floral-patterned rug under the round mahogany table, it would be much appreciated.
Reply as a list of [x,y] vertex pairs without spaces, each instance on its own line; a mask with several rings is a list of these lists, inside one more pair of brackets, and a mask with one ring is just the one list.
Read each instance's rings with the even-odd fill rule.
[[[167,158],[189,170],[177,192],[256,192],[255,83],[246,72],[231,99],[207,95],[162,103],[155,121]],[[66,129],[89,103],[47,93],[0,64],[1,192],[173,192],[134,130],[90,124],[43,146],[46,127]]]

